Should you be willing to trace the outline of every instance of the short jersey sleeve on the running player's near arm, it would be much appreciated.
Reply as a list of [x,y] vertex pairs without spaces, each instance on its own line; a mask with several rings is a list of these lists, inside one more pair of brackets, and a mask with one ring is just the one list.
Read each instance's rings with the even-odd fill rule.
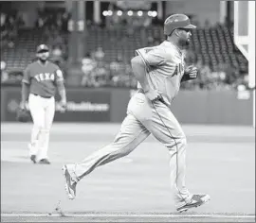
[[137,49],[136,54],[142,58],[147,66],[157,66],[165,62],[165,52],[157,47]]

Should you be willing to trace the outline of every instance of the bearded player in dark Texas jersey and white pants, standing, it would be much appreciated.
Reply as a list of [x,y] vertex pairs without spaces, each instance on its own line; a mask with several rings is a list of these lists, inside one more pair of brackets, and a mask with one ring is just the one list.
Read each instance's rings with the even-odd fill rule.
[[33,120],[31,141],[28,145],[30,160],[33,163],[49,164],[47,150],[49,131],[55,113],[55,89],[61,95],[61,105],[66,105],[63,72],[47,60],[49,49],[45,44],[37,47],[38,60],[27,65],[22,80],[21,109],[28,107]]

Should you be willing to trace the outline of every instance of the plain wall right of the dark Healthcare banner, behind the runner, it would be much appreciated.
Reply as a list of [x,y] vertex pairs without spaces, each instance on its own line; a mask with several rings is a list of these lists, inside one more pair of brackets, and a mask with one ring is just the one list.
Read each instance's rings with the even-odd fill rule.
[[[130,93],[113,90],[111,121],[121,122],[126,115]],[[249,125],[253,117],[252,92],[180,91],[171,110],[183,124]]]

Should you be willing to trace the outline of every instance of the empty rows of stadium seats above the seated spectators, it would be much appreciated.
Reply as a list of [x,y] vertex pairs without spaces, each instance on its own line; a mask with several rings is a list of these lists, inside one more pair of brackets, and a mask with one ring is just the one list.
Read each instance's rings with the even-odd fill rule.
[[[227,26],[212,26],[198,28],[192,32],[191,62],[201,60],[214,71],[219,64],[228,63],[237,67],[241,73],[247,73],[247,60],[233,43],[232,29]],[[68,33],[62,34],[67,43]],[[107,29],[88,27],[86,35],[86,52],[102,47],[105,60],[110,62],[122,55],[124,60],[134,56],[135,49],[147,46],[148,38],[153,37],[158,43],[163,41],[161,26],[131,30],[125,27]],[[47,37],[42,30],[20,30],[15,39],[13,48],[1,51],[1,59],[7,62],[7,69],[24,69],[27,63],[34,58],[35,48],[39,43],[47,43]]]

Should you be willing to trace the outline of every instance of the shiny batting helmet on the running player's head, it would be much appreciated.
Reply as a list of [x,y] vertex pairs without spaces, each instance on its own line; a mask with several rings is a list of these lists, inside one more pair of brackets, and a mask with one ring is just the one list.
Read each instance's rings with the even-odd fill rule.
[[169,36],[176,28],[196,28],[191,24],[191,21],[187,15],[174,14],[169,16],[164,22],[164,34]]

